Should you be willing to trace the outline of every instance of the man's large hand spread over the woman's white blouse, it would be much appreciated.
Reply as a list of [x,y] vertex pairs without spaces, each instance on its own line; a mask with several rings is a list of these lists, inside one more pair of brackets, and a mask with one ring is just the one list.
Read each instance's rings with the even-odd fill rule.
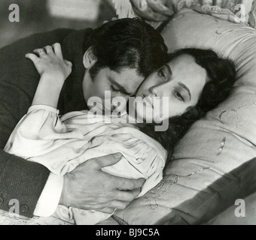
[[59,204],[112,213],[124,209],[139,195],[145,179],[128,179],[102,171],[119,162],[122,154],[87,160],[64,176]]

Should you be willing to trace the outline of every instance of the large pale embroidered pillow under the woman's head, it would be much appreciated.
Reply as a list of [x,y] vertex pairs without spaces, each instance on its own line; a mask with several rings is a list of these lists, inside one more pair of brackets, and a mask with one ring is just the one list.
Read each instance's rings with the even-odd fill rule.
[[163,181],[115,212],[122,224],[204,223],[256,190],[256,30],[184,9],[162,34],[169,52],[211,48],[232,59],[238,81],[181,139]]

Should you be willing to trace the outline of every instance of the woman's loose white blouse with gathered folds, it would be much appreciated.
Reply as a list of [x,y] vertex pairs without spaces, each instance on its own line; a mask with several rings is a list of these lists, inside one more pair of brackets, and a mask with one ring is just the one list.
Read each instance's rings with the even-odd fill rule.
[[[80,111],[59,118],[58,114],[52,107],[30,107],[8,139],[5,151],[41,163],[55,175],[65,175],[91,158],[120,152],[123,158],[102,170],[126,178],[145,178],[139,196],[162,180],[166,150],[133,124],[121,123],[127,115],[114,118]],[[77,224],[95,224],[111,216],[65,206],[59,206],[56,214]]]

